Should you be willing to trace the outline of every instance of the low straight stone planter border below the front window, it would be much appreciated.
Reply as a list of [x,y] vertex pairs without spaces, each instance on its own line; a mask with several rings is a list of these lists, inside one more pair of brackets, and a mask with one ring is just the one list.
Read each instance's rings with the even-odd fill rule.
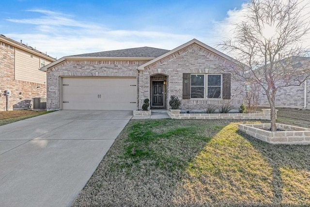
[[[277,110],[278,111],[278,110]],[[171,119],[262,119],[270,120],[270,109],[256,113],[180,113],[180,110],[167,111]]]

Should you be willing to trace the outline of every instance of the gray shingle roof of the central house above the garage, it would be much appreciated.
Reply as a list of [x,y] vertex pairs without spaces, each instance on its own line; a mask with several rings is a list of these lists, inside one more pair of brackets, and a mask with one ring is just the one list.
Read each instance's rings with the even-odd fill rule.
[[129,49],[118,49],[118,50],[110,50],[110,51],[103,51],[103,52],[86,53],[86,54],[73,55],[73,56],[157,58],[169,51],[170,50],[167,50],[167,49],[142,47],[142,48],[129,48]]

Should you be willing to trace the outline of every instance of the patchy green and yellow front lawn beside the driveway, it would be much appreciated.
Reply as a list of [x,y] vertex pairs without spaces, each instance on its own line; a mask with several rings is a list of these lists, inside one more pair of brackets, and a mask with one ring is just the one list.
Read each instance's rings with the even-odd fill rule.
[[73,206],[309,206],[310,146],[231,120],[131,120]]

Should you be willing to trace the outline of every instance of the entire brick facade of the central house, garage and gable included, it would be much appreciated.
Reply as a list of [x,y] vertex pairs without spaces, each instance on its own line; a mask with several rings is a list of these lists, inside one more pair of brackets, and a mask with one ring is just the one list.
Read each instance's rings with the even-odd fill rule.
[[[47,69],[47,110],[61,110],[61,77],[136,77],[137,109],[142,108],[144,99],[151,97],[152,80],[165,80],[165,108],[169,109],[169,98],[175,95],[182,100],[183,73],[222,73],[217,65],[225,59],[197,44],[191,44],[150,64],[144,70],[138,66],[149,60],[83,60],[67,59]],[[56,62],[55,62],[56,63]],[[207,104],[221,105],[230,102],[238,108],[242,104],[243,86],[240,82],[231,82],[230,100],[182,100],[182,109],[203,109]]]

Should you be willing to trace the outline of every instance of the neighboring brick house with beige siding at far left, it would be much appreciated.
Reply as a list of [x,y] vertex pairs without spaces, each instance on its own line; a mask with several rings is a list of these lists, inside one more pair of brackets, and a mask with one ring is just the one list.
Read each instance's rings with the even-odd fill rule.
[[[28,109],[32,98],[46,98],[46,73],[54,58],[0,35],[0,111]],[[40,99],[37,99],[40,101]]]

